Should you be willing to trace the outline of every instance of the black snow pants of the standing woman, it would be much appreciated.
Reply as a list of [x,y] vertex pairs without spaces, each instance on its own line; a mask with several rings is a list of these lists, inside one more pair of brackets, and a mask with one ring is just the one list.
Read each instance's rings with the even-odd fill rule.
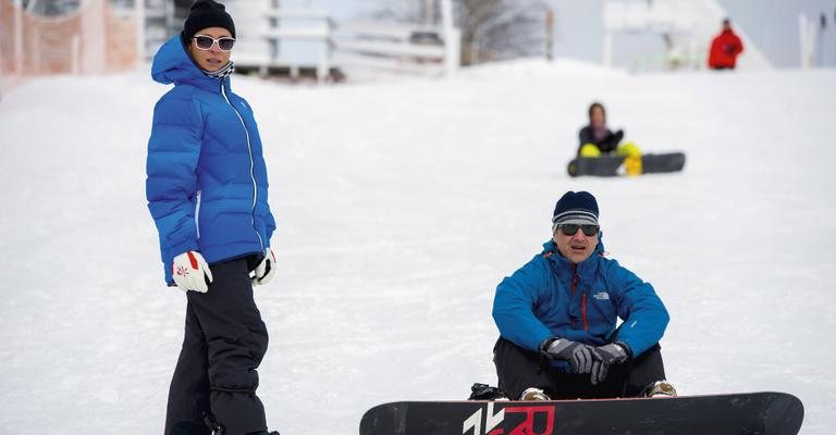
[[225,435],[267,430],[256,369],[268,336],[253,299],[249,263],[213,264],[209,290],[186,291],[185,338],[169,389],[165,435],[209,435],[205,417],[213,417]]

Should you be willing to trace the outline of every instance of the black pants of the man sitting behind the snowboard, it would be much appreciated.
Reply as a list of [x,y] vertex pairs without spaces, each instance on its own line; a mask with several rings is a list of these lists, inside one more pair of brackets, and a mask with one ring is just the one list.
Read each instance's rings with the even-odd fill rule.
[[638,397],[665,378],[659,344],[638,357],[610,368],[603,383],[592,385],[590,374],[563,373],[540,356],[500,337],[493,348],[499,387],[516,400],[526,388],[540,388],[554,400]]

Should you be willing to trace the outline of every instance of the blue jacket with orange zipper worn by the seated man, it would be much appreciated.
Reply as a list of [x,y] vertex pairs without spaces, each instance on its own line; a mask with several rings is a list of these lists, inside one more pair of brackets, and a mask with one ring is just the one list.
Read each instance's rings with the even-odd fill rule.
[[[496,287],[493,319],[500,334],[532,351],[550,337],[601,346],[619,340],[638,356],[656,344],[669,320],[653,287],[617,261],[603,243],[575,265],[554,241]],[[615,332],[616,316],[624,321]]]

